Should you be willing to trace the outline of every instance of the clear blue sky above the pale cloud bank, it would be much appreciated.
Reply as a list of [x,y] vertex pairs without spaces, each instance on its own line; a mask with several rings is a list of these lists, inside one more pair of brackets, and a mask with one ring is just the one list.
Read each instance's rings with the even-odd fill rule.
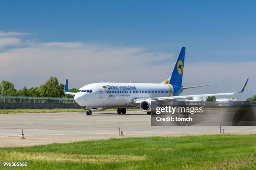
[[[180,48],[185,46],[185,62],[190,65],[206,62],[217,67],[218,63],[233,67],[246,62],[245,66],[252,63],[253,67],[256,61],[255,8],[256,1],[233,0],[0,1],[0,31],[28,33],[26,36],[20,35],[15,45],[5,45],[0,51],[31,47],[32,42],[36,42],[37,46],[51,42],[81,42],[103,45],[104,49],[132,48],[133,52],[140,48],[135,50],[138,54],[150,53],[151,57],[155,57],[155,60],[147,62],[149,66],[165,62],[173,67]],[[72,57],[76,61],[76,57]],[[5,78],[17,80],[10,77]],[[240,80],[236,76],[233,78]],[[115,77],[112,80],[115,81]],[[17,87],[23,84],[16,82]],[[77,80],[75,86],[80,84],[82,82]],[[188,81],[187,84],[193,83]]]

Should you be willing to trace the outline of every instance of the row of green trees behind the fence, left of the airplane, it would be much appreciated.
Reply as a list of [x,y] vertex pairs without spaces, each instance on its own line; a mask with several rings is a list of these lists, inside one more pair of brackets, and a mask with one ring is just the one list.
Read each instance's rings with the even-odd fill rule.
[[[78,89],[69,89],[69,92],[77,92]],[[3,80],[0,83],[0,95],[3,96],[31,96],[31,97],[74,97],[73,95],[64,94],[64,84],[59,84],[57,77],[51,76],[40,87],[27,88],[26,86],[20,90],[16,90],[13,83]]]

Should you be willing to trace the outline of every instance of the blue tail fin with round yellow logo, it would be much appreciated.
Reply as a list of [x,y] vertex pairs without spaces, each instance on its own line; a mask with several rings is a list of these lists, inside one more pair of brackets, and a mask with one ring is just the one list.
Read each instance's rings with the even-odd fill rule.
[[186,47],[182,47],[179,52],[179,57],[176,61],[176,64],[172,70],[172,75],[169,81],[169,84],[172,85],[182,85],[182,75],[184,69],[184,58],[185,58]]

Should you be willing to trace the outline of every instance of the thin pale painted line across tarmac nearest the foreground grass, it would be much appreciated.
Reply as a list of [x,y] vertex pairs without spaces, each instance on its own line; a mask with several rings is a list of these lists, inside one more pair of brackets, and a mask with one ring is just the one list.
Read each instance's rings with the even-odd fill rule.
[[[255,132],[255,130],[253,131],[228,131],[226,133],[240,133],[240,132]],[[128,133],[124,133],[124,134],[158,134],[158,133],[220,133],[219,131],[195,131],[195,132],[128,132]],[[54,136],[54,135],[118,135],[118,133],[59,133],[59,134],[34,134],[34,135],[26,135],[26,136]],[[20,137],[20,135],[3,135],[0,137]]]

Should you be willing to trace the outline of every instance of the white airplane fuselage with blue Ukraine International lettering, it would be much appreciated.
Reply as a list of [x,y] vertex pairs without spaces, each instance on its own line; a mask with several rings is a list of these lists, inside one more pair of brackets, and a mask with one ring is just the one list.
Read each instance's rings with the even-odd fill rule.
[[174,94],[170,84],[101,82],[85,85],[74,96],[81,106],[134,107],[136,98],[166,97]]

